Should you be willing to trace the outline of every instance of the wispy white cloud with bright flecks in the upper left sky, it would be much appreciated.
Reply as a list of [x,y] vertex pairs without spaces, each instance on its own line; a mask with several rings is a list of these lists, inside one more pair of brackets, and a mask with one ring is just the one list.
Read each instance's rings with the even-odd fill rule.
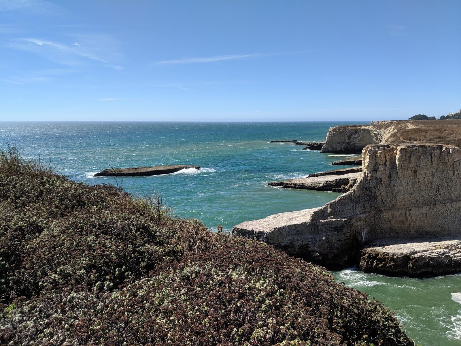
[[108,68],[122,70],[123,67],[109,62],[111,58],[118,58],[119,54],[113,53],[111,47],[113,40],[101,35],[71,35],[80,43],[64,44],[37,38],[14,39],[4,47],[23,50],[37,54],[47,60],[68,66],[83,65],[84,60],[102,63]]

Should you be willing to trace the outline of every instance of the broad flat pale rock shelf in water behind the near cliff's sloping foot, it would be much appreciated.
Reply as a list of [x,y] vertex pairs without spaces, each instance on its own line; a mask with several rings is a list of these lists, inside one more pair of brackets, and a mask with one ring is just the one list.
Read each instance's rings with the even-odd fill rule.
[[[322,174],[322,173],[315,173]],[[316,191],[347,192],[360,178],[361,173],[320,175],[282,181],[272,181],[269,186],[281,186],[284,189],[306,189]]]

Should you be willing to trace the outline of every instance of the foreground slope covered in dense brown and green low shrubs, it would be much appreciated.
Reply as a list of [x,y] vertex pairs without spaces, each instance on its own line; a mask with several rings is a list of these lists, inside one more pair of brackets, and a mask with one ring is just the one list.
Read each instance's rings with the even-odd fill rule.
[[413,345],[391,311],[324,268],[11,149],[0,345]]

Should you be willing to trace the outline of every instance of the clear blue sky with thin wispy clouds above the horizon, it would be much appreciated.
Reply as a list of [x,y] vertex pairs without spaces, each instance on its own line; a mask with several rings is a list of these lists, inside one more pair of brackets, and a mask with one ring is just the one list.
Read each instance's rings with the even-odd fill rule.
[[408,119],[461,107],[461,1],[0,0],[0,120]]

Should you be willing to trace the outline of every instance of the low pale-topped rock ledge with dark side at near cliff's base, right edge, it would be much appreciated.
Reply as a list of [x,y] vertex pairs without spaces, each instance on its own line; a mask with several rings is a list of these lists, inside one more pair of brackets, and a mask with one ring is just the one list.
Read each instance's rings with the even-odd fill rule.
[[461,271],[461,240],[384,239],[361,251],[360,268],[384,275],[426,276]]

